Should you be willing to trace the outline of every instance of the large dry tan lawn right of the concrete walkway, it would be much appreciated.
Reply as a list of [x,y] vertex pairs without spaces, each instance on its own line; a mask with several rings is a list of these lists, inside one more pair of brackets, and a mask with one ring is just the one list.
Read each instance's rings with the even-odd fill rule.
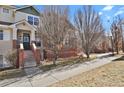
[[112,63],[57,82],[51,87],[122,87],[124,86],[124,56]]

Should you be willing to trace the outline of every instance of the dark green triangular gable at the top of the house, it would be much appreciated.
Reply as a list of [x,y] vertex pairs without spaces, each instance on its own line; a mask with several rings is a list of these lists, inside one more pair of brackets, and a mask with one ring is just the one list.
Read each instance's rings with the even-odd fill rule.
[[17,7],[16,11],[21,11],[21,12],[25,12],[25,13],[29,13],[29,14],[33,14],[33,15],[40,15],[40,11],[32,5],[24,5],[21,7]]

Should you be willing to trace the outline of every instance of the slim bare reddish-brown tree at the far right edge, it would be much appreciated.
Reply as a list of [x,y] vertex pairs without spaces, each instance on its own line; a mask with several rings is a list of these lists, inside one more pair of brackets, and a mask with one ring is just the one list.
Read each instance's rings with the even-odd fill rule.
[[119,49],[122,47],[122,28],[121,28],[121,19],[117,17],[111,24],[111,33],[112,33],[112,42],[113,48],[119,54]]

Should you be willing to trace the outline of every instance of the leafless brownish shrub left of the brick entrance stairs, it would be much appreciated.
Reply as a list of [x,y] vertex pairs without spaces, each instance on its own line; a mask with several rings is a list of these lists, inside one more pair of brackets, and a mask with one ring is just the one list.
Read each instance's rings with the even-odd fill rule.
[[8,54],[5,56],[5,59],[7,62],[9,62],[10,65],[12,65],[13,67],[16,67],[17,50],[9,51]]

